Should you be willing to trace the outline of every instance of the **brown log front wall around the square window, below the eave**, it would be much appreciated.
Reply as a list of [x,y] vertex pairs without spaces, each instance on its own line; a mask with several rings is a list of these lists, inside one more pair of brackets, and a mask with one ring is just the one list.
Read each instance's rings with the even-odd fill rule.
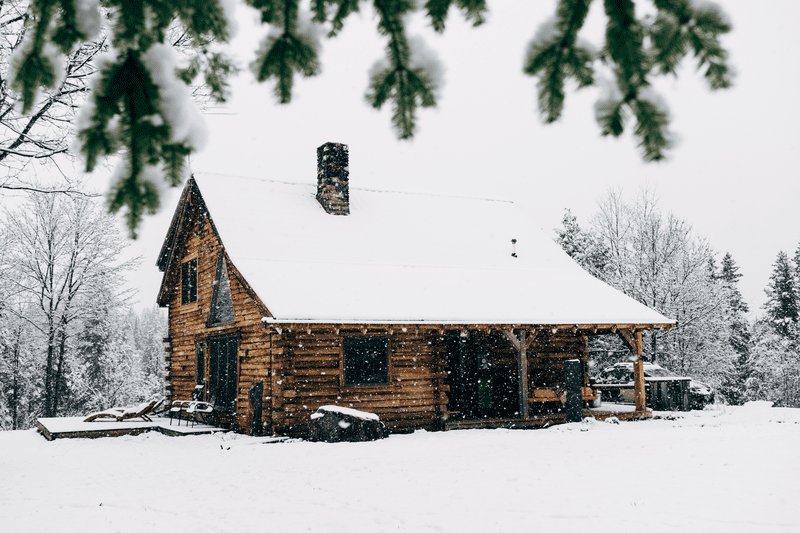
[[[322,324],[270,329],[273,356],[280,367],[272,404],[280,433],[305,436],[309,417],[322,405],[375,413],[393,432],[441,427],[449,389],[444,383],[440,332],[414,326]],[[342,345],[351,335],[388,337],[388,384],[344,385]]]

